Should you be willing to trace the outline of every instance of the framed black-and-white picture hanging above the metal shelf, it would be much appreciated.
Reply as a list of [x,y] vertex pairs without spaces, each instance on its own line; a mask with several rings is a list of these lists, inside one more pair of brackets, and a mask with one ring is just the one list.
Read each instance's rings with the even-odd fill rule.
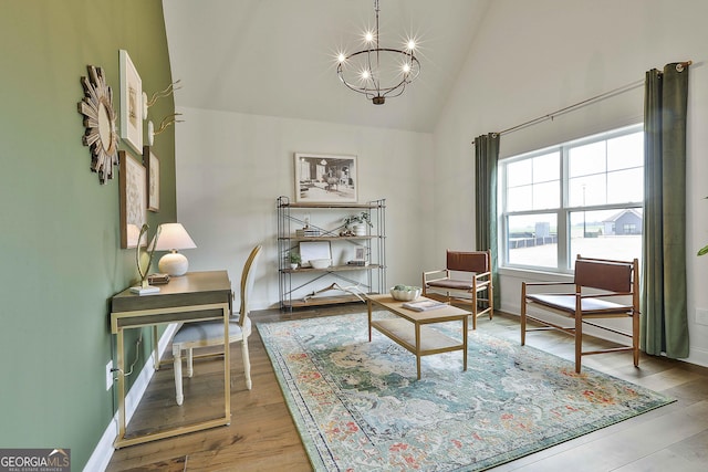
[[294,165],[296,202],[358,201],[356,156],[295,153]]

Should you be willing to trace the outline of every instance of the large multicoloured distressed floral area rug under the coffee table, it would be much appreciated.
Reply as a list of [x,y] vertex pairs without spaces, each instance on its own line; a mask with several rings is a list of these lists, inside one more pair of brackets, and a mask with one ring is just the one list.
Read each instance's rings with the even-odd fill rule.
[[258,331],[316,471],[485,470],[674,401],[480,329],[467,371],[461,352],[437,354],[420,380],[408,350],[368,342],[366,314]]

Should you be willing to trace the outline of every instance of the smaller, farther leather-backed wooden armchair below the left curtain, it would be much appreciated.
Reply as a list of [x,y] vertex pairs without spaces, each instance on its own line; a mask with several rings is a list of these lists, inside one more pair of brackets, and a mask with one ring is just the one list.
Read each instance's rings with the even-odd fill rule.
[[490,251],[448,250],[445,269],[423,273],[423,296],[469,305],[472,329],[477,329],[478,316],[489,313],[491,319],[494,313]]

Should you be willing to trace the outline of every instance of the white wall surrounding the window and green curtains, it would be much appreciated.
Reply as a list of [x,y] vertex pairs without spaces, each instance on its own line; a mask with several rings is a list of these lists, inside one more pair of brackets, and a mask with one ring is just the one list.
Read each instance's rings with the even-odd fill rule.
[[[468,244],[475,190],[471,140],[644,78],[645,71],[693,60],[689,78],[687,248],[690,358],[708,365],[708,2],[705,0],[494,0],[452,90],[435,143],[434,252]],[[543,125],[501,137],[501,157],[642,120],[636,88]],[[473,180],[472,180],[473,181]],[[461,189],[462,198],[459,196]],[[676,189],[684,191],[684,189]],[[451,203],[450,203],[451,202]],[[460,221],[460,214],[466,216]],[[469,216],[469,217],[467,217]],[[459,229],[450,231],[450,229]],[[471,232],[473,234],[473,232]],[[473,239],[473,235],[472,235]],[[520,283],[533,274],[503,272],[504,311],[519,313]]]

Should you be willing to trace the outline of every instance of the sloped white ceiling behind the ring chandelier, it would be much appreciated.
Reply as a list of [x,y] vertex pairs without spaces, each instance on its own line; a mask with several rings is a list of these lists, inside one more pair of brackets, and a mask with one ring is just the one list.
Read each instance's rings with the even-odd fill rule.
[[178,107],[433,132],[489,0],[381,0],[381,46],[414,34],[421,72],[373,105],[337,78],[373,0],[164,0]]

